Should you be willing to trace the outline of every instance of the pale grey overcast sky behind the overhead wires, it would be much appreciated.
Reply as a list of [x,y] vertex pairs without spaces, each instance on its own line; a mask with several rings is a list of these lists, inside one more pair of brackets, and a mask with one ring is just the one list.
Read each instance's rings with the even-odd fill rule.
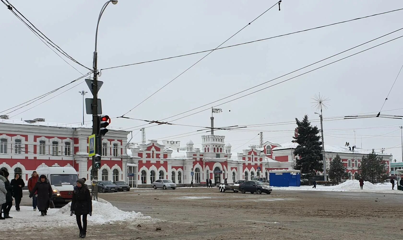
[[[10,0],[10,2],[69,55],[85,66],[92,66],[96,20],[104,1]],[[275,2],[275,0],[119,0],[117,5],[108,6],[101,19],[98,35],[98,67],[108,68],[213,49]],[[281,11],[278,11],[278,6],[275,6],[224,46],[402,7],[403,2],[399,0],[388,2],[283,0]],[[402,11],[397,11],[217,50],[126,116],[160,120],[202,106],[395,31],[401,28],[401,14]],[[0,78],[3,86],[0,110],[11,108],[80,77],[76,70],[56,56],[3,4],[0,7],[0,21],[2,22],[0,25],[2,33]],[[403,30],[349,53],[399,37],[402,32]],[[403,64],[402,43],[403,39],[397,39],[320,70],[219,106],[217,108],[222,108],[223,112],[215,114],[215,125],[288,122],[293,121],[295,117],[301,119],[304,114],[308,114],[310,119],[317,119],[311,98],[319,92],[331,99],[329,108],[323,112],[324,118],[378,112]],[[343,54],[334,60],[347,55],[349,54]],[[104,81],[104,86],[99,97],[102,99],[103,112],[111,117],[121,116],[202,56],[204,55],[197,54],[102,71],[99,80]],[[331,61],[326,61],[328,62]],[[71,64],[83,73],[88,72],[77,64]],[[295,75],[297,73],[289,77]],[[384,110],[402,108],[400,93],[403,87],[402,77],[397,79]],[[272,83],[285,79],[287,78],[278,79]],[[269,85],[271,84],[263,86]],[[27,112],[14,116],[27,109],[23,108],[9,115],[17,120],[41,117],[46,118],[48,122],[79,122],[82,119],[82,98],[78,91],[81,90],[88,91],[85,83]],[[45,99],[48,98],[43,100]],[[403,111],[396,110],[384,112],[384,114],[403,115]],[[209,126],[210,116],[211,112],[205,111],[175,123]],[[91,120],[91,116],[86,115],[85,119]],[[140,124],[143,122],[121,118],[112,121],[113,126],[123,128]],[[357,147],[361,147],[361,142],[364,149],[395,147],[386,152],[393,153],[394,158],[400,160],[401,133],[398,126],[402,124],[402,120],[387,118],[326,121],[324,122],[325,143],[331,145],[344,145],[346,141],[350,144],[354,143],[352,128],[365,128],[355,130]],[[369,128],[378,126],[388,127]],[[281,144],[292,140],[294,128],[295,124],[287,124],[251,129],[274,130],[274,132],[265,132],[264,140]],[[351,130],[341,130],[346,128]],[[198,129],[161,125],[147,128],[146,135],[147,139],[164,139],[164,137]],[[248,140],[244,139],[256,137],[248,144],[258,144],[258,132],[247,129],[230,132],[221,130],[216,131],[216,134],[226,135],[226,141],[232,143],[233,149],[237,148],[236,151],[240,151],[247,147]],[[381,134],[385,134],[385,137],[373,137]],[[139,130],[135,130],[133,135],[135,135],[133,142],[141,141]],[[201,142],[200,135],[177,140],[186,143],[188,139],[192,139],[197,144]]]

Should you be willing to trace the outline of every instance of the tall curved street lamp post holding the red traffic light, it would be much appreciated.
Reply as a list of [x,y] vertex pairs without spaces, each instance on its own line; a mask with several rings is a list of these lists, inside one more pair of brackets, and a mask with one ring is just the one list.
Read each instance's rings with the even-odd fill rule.
[[[93,62],[92,62],[92,67],[93,67],[93,90],[92,90],[92,134],[96,134],[96,139],[98,139],[99,135],[99,126],[98,126],[98,69],[97,69],[97,59],[98,59],[98,53],[97,53],[97,40],[98,40],[98,26],[100,24],[101,16],[102,13],[104,13],[106,7],[108,4],[112,2],[112,4],[117,4],[118,0],[109,0],[102,6],[100,15],[98,16],[98,22],[97,22],[97,28],[95,32],[95,50],[93,53]],[[100,149],[98,146],[100,145],[98,141],[95,141],[95,149],[96,153],[99,153]],[[98,201],[98,170],[95,169],[95,156],[92,157],[92,197],[93,200]]]

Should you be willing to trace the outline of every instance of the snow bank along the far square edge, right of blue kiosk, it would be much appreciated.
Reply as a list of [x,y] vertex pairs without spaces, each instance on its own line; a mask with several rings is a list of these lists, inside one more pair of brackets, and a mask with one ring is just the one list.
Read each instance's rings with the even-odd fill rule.
[[392,184],[378,183],[372,184],[370,182],[364,182],[363,190],[359,187],[358,180],[347,180],[336,186],[322,186],[316,185],[316,189],[312,186],[300,186],[300,187],[272,187],[273,190],[289,190],[289,191],[328,191],[328,192],[373,192],[373,193],[396,193],[403,194],[403,191],[397,190],[395,184],[395,190],[392,190]]

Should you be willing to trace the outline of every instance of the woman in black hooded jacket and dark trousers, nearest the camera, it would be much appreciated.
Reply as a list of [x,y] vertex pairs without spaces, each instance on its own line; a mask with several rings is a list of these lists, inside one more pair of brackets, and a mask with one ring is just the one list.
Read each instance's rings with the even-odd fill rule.
[[[76,188],[74,188],[73,191],[70,216],[73,216],[73,214],[76,215],[77,226],[80,230],[80,238],[85,238],[87,233],[87,215],[92,215],[92,200],[88,186],[82,178],[77,180]],[[82,225],[81,215],[83,216]]]

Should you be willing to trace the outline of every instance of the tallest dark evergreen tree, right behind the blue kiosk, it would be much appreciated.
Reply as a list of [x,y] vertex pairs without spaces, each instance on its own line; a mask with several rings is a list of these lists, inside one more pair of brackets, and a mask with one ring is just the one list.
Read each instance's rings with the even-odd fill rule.
[[299,156],[296,160],[295,169],[301,173],[315,173],[323,171],[322,162],[322,141],[320,141],[317,126],[311,126],[308,116],[305,115],[302,121],[297,121],[298,137],[293,137],[293,143],[298,143],[294,155]]

